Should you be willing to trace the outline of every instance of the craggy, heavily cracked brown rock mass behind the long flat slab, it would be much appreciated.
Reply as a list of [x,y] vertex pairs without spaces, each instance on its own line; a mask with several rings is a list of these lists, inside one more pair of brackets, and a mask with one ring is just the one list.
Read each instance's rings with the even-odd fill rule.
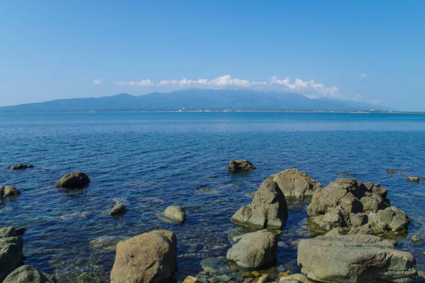
[[356,179],[337,179],[316,191],[307,212],[310,221],[324,230],[359,228],[364,234],[379,234],[408,228],[407,215],[390,207],[386,189]]

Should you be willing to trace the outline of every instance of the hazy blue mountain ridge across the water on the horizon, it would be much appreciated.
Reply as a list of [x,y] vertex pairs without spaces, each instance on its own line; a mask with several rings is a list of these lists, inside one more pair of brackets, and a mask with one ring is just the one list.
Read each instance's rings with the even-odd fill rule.
[[308,98],[287,92],[244,89],[183,89],[140,96],[117,94],[99,98],[69,98],[0,107],[0,113],[34,112],[134,112],[178,110],[241,111],[388,111],[356,101]]

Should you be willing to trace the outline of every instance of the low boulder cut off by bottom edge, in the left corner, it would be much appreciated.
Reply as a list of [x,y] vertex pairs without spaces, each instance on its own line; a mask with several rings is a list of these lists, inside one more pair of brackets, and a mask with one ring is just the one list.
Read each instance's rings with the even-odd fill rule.
[[20,266],[3,280],[3,283],[55,283],[56,279],[44,272],[40,272],[33,266]]

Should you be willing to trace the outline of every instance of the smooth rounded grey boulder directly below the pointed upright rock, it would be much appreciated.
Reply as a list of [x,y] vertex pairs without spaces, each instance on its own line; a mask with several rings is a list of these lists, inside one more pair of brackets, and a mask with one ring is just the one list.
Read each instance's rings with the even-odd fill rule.
[[226,259],[242,268],[259,268],[276,260],[276,236],[269,230],[243,234],[228,251]]

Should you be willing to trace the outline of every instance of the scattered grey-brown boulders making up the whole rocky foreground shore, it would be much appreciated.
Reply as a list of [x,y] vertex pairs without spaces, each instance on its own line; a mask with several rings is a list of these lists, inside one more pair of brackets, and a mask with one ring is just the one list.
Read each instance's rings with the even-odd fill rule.
[[[255,166],[248,160],[232,160],[228,170],[248,173]],[[81,189],[89,184],[88,175],[72,172],[60,178],[56,187]],[[1,200],[19,194],[14,187],[0,186],[0,205]],[[287,200],[311,200],[308,221],[322,236],[300,239],[297,262],[276,269],[278,238],[284,237],[281,230],[291,217]],[[126,206],[117,203],[110,215],[125,217],[126,211]],[[179,225],[190,217],[178,205],[167,207],[163,216]],[[339,178],[322,187],[308,174],[286,169],[265,178],[251,203],[240,207],[231,221],[251,232],[229,234],[226,257],[203,259],[203,271],[188,275],[184,283],[424,282],[412,254],[397,250],[395,241],[378,237],[407,234],[410,221],[405,212],[390,205],[387,190],[379,184]],[[0,229],[0,282],[56,282],[51,275],[22,265],[22,246],[15,228]],[[110,282],[174,282],[177,248],[178,237],[167,230],[120,241]]]

